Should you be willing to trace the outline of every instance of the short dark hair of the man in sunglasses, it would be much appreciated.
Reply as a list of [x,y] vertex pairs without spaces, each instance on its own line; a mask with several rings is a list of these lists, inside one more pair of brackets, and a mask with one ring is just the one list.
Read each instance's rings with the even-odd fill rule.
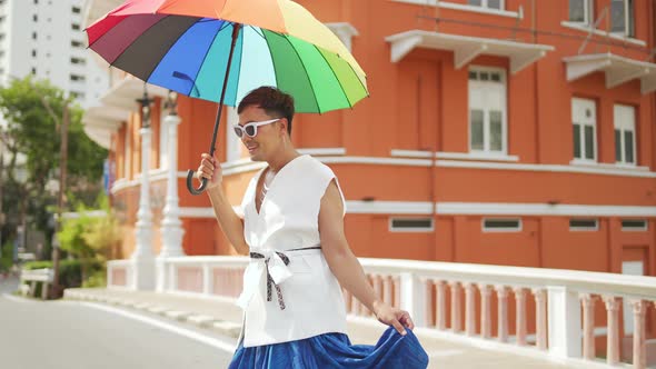
[[237,107],[240,114],[243,109],[256,106],[264,109],[272,118],[287,118],[287,132],[291,136],[291,119],[294,119],[294,98],[270,86],[259,87],[250,92]]

